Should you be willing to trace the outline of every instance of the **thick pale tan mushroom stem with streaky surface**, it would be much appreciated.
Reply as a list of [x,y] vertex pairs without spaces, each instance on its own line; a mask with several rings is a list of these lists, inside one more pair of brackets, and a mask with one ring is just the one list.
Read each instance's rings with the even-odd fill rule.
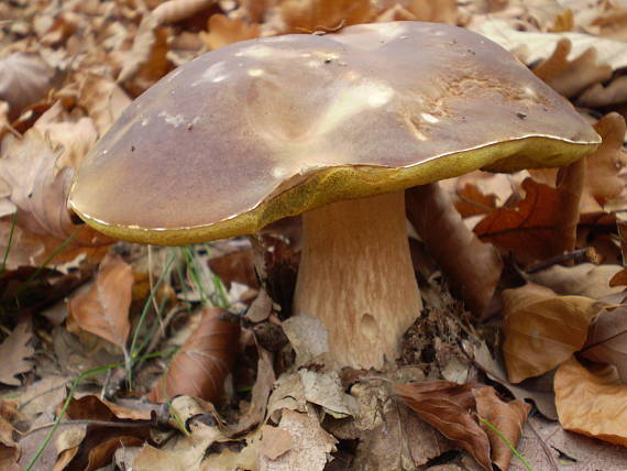
[[422,303],[405,222],[404,191],[304,213],[296,315],[320,319],[330,360],[381,369],[400,352]]

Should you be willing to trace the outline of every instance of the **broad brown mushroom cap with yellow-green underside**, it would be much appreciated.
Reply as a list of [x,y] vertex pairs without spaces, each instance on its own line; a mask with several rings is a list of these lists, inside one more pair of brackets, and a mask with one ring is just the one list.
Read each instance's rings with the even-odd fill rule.
[[69,205],[108,236],[176,245],[476,168],[559,166],[598,143],[479,34],[356,25],[237,43],[172,72],[86,156]]

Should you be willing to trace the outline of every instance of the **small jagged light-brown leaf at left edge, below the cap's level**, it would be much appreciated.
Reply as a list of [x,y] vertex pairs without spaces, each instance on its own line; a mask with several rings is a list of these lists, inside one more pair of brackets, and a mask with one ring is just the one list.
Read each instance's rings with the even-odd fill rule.
[[35,349],[31,346],[32,338],[31,319],[25,317],[0,344],[0,383],[10,386],[22,384],[15,375],[28,373],[33,368],[31,358],[35,354]]

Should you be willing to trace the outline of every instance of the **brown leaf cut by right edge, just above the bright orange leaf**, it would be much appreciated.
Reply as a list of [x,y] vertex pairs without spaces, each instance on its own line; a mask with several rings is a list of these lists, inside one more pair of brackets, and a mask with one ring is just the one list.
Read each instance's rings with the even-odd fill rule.
[[616,366],[627,383],[627,308],[603,309],[590,326],[587,341],[581,355]]

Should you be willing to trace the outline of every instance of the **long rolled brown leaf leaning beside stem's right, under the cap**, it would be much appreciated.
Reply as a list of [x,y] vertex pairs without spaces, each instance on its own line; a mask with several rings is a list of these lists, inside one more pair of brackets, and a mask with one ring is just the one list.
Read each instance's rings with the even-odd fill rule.
[[490,243],[465,226],[447,191],[438,184],[406,191],[407,217],[468,307],[481,316],[501,278],[503,263]]

